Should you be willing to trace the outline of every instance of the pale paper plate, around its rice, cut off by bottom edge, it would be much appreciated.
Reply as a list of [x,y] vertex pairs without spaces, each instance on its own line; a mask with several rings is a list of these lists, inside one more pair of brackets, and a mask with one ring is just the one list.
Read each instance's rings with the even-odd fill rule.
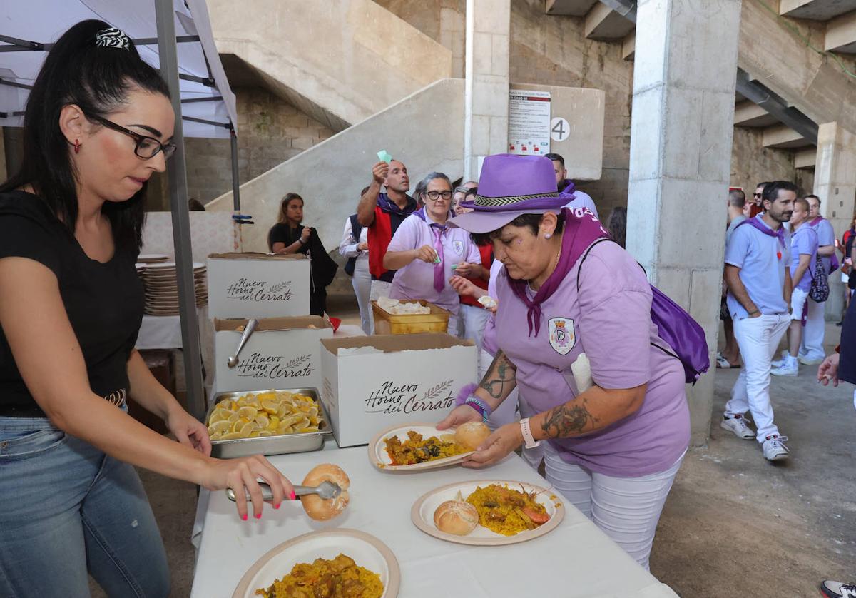
[[241,577],[232,598],[255,598],[255,591],[267,588],[288,575],[298,563],[315,559],[335,559],[345,554],[361,567],[374,571],[383,583],[382,598],[395,598],[401,584],[398,560],[382,541],[356,529],[329,529],[283,542],[257,560]]

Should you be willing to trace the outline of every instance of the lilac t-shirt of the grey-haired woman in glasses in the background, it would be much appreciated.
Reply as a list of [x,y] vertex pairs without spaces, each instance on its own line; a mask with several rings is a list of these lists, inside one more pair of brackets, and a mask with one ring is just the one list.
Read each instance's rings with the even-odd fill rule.
[[[415,213],[405,218],[389,242],[387,251],[409,251],[423,245],[434,247],[431,217],[425,215],[425,218],[428,218],[427,221]],[[481,264],[481,254],[466,230],[446,228],[440,238],[443,242],[443,290],[439,293],[434,290],[434,264],[413,260],[395,272],[389,296],[393,299],[425,299],[437,307],[457,314],[461,308],[461,300],[458,291],[449,286],[452,266],[461,261]]]

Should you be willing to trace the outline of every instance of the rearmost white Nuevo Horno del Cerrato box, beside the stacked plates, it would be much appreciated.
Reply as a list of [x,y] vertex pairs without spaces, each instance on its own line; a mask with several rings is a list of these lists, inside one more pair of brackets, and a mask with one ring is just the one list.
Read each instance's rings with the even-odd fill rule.
[[211,318],[309,314],[310,260],[303,254],[208,256]]

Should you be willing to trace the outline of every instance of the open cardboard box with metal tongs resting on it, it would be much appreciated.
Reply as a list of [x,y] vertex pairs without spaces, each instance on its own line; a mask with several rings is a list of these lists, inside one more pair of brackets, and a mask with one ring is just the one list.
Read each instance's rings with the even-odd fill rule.
[[[309,326],[315,326],[310,328]],[[317,315],[259,320],[238,356],[227,360],[241,340],[247,320],[214,320],[214,386],[217,392],[271,388],[321,388],[321,339],[333,338],[330,320]]]

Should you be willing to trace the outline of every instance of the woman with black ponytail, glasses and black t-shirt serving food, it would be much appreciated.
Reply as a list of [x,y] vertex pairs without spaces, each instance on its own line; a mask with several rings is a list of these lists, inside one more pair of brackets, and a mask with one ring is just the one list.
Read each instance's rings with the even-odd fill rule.
[[[146,180],[175,150],[158,71],[128,36],[82,21],[34,82],[21,169],[0,185],[0,595],[166,596],[169,569],[132,465],[211,490],[256,478],[294,496],[264,457],[210,457],[207,430],[134,350]],[[126,398],[177,442],[134,421]]]

